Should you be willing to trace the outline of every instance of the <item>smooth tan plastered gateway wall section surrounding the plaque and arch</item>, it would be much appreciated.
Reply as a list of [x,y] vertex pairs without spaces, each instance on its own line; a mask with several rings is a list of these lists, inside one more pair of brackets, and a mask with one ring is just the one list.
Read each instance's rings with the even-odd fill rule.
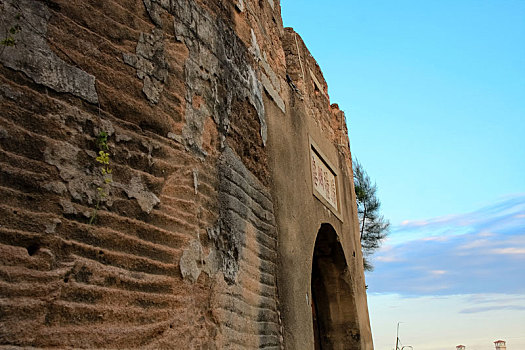
[[[279,229],[279,293],[285,345],[313,348],[312,255],[321,225],[330,225],[344,251],[352,305],[333,305],[348,312],[344,333],[331,348],[372,349],[363,273],[363,259],[355,207],[352,162],[345,116],[330,104],[321,69],[291,28],[285,28],[289,97],[287,112],[280,114],[267,103],[272,194]],[[336,175],[338,208],[315,195],[311,149]],[[346,283],[346,282],[345,282]],[[323,347],[324,348],[324,347]]]

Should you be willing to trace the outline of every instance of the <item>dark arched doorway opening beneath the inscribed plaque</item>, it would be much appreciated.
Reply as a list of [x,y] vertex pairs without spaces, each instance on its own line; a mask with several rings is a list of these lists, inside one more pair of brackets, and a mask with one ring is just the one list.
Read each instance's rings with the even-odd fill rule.
[[322,224],[312,262],[312,318],[315,350],[360,350],[361,335],[352,282],[343,247]]

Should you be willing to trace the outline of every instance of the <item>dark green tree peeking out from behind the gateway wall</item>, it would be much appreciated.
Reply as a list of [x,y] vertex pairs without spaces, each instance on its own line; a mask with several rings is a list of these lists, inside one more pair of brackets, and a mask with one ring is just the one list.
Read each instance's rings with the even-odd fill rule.
[[376,184],[372,184],[370,177],[357,160],[353,161],[353,169],[364,267],[365,270],[372,271],[374,267],[370,262],[370,256],[388,235],[390,222],[380,214],[381,202],[376,195]]

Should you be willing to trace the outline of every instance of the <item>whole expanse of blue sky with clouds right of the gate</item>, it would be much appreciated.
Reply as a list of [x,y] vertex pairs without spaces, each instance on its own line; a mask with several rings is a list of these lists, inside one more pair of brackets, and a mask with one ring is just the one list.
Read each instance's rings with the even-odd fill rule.
[[414,349],[525,348],[525,1],[281,9],[392,222],[367,274],[375,348],[398,321]]

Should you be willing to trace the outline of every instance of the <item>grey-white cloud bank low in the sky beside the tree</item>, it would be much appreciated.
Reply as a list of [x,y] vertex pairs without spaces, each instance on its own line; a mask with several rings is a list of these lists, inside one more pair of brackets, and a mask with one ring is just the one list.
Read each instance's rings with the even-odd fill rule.
[[[525,194],[394,228],[367,275],[371,292],[525,293]],[[474,310],[474,308],[473,308]]]

